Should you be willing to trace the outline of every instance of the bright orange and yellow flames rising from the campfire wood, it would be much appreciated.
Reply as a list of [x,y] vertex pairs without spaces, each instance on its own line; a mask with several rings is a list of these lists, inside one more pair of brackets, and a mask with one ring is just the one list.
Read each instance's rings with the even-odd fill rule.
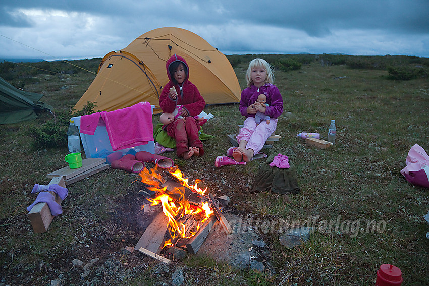
[[[189,204],[188,200],[184,196],[185,187],[204,195],[207,191],[207,188],[202,190],[197,186],[198,183],[202,182],[201,180],[195,180],[195,185],[190,186],[188,185],[188,179],[183,178],[183,174],[179,169],[176,169],[173,172],[170,171],[170,174],[177,178],[179,182],[184,186],[175,188],[174,190],[174,194],[178,195],[179,197],[178,200],[173,199],[171,196],[165,193],[167,187],[162,187],[162,185],[165,183],[165,179],[157,172],[156,166],[152,170],[143,168],[143,170],[139,174],[142,178],[141,182],[148,185],[146,188],[156,192],[158,195],[154,199],[148,198],[148,200],[152,202],[151,205],[157,205],[160,203],[163,206],[164,214],[169,219],[169,231],[171,238],[165,242],[164,247],[173,245],[173,242],[178,241],[178,239],[191,238],[199,230],[200,224],[204,223],[213,214],[213,211],[210,209],[207,202],[204,202],[202,207],[193,206]],[[201,214],[204,214],[204,218],[197,224],[196,230],[188,232],[188,236],[186,235],[186,226],[178,221],[181,217],[187,214],[199,214],[200,216]]]

